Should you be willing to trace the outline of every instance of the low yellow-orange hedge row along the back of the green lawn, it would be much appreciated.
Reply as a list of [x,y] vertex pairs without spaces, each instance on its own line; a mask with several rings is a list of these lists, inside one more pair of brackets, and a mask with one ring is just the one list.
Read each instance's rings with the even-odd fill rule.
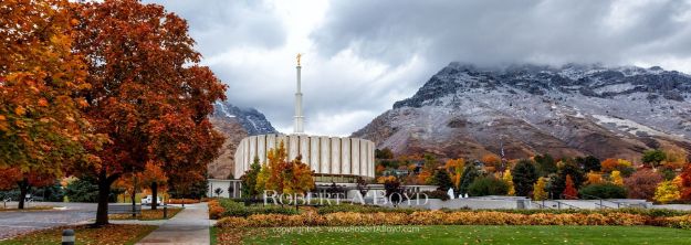
[[691,215],[653,217],[629,213],[519,214],[495,211],[406,213],[255,214],[223,217],[218,227],[349,226],[349,225],[657,225],[691,227]]

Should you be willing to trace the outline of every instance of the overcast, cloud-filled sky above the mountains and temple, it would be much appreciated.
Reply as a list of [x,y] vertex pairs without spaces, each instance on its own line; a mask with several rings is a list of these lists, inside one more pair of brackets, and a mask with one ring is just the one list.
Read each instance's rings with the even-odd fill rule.
[[659,65],[691,74],[691,0],[157,0],[188,21],[228,100],[292,132],[349,136],[450,62]]

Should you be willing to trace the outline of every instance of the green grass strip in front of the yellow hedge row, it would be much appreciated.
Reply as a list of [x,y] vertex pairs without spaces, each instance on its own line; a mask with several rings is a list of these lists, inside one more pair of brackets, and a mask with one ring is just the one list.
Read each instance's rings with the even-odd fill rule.
[[[347,231],[347,228],[358,231]],[[245,231],[244,244],[691,244],[691,231],[652,226],[354,226]],[[370,230],[367,230],[370,228]],[[376,231],[377,228],[378,231]],[[385,231],[388,228],[388,231]],[[391,230],[398,228],[398,230]]]

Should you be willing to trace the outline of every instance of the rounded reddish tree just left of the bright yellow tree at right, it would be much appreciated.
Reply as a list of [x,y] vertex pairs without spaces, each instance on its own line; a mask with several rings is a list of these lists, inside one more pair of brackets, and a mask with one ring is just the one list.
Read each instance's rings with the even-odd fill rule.
[[624,179],[629,199],[651,200],[660,182],[662,182],[662,175],[648,169],[639,170]]

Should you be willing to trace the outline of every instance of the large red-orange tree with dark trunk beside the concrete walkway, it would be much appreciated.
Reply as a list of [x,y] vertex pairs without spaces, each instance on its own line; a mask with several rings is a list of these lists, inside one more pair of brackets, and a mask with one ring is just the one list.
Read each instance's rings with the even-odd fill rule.
[[[226,86],[199,66],[187,23],[156,4],[136,0],[77,3],[75,51],[85,57],[92,89],[84,115],[109,143],[90,149],[102,162],[73,173],[98,181],[96,225],[108,223],[111,184],[160,162],[167,174],[202,171],[223,138],[207,116]],[[186,173],[187,174],[187,173]]]

